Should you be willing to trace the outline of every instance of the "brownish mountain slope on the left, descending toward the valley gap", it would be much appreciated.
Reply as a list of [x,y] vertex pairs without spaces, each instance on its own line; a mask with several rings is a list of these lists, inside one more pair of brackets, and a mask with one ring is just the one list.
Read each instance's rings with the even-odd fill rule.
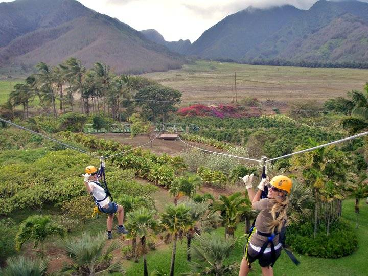
[[180,68],[183,58],[118,19],[75,0],[0,3],[0,66],[53,65],[68,57],[97,61],[118,73]]

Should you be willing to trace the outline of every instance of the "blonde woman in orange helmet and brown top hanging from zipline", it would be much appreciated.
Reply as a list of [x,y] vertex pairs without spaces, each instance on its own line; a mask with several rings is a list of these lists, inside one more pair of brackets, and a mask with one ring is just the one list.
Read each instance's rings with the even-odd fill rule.
[[[279,243],[279,234],[284,225],[287,225],[286,210],[289,205],[287,194],[290,193],[292,181],[290,178],[278,175],[269,182],[268,177],[262,178],[255,192],[252,186],[253,174],[242,179],[245,183],[252,208],[259,210],[254,227],[244,250],[244,257],[240,265],[239,276],[246,276],[252,262],[258,260],[262,274],[272,276],[272,267],[279,258],[282,244]],[[267,198],[261,199],[261,193],[268,185]]]

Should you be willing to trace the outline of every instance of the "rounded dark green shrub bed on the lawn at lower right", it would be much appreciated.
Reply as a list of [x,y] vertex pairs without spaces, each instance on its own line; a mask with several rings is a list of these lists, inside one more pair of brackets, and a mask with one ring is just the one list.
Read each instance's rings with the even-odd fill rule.
[[320,225],[314,238],[311,222],[292,224],[286,228],[286,243],[301,254],[321,258],[340,258],[356,251],[358,239],[349,222],[335,221],[329,235],[324,227]]

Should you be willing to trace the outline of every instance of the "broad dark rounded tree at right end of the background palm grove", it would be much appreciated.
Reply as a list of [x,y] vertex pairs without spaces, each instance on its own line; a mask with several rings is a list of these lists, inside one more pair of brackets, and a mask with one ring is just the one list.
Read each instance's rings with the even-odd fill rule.
[[181,102],[181,92],[162,85],[149,85],[141,88],[135,95],[136,104],[145,112],[149,112],[152,121],[156,122],[162,114],[163,121],[169,111],[176,111],[176,104]]

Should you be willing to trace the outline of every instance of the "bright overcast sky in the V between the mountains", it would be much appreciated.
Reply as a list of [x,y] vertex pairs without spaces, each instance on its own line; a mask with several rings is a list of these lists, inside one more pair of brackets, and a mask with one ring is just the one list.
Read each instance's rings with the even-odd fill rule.
[[227,15],[250,5],[265,8],[291,4],[307,10],[316,0],[79,0],[79,2],[99,13],[116,17],[136,30],[155,29],[167,41],[181,38],[194,42],[205,30]]

